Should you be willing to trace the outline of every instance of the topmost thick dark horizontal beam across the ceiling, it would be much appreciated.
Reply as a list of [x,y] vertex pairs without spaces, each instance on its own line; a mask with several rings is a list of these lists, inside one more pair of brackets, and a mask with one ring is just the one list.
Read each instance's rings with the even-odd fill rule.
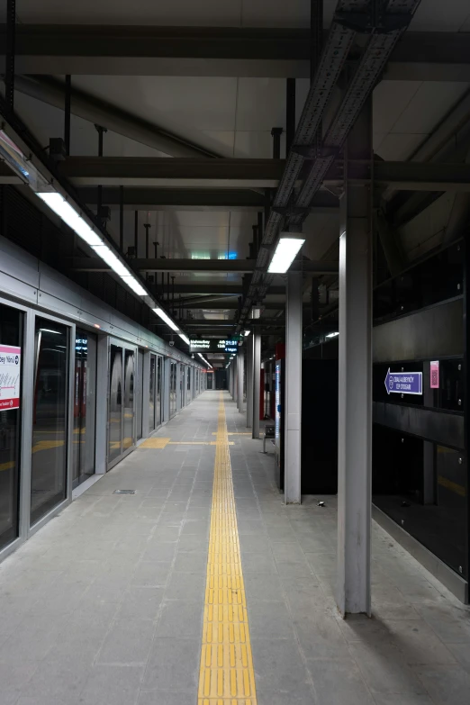
[[[2,40],[5,44],[5,25],[0,27],[0,44]],[[16,28],[18,74],[308,78],[310,57],[306,29],[60,24]],[[393,51],[384,77],[467,82],[469,67],[468,32],[408,32]],[[1,62],[0,69],[4,71]]]

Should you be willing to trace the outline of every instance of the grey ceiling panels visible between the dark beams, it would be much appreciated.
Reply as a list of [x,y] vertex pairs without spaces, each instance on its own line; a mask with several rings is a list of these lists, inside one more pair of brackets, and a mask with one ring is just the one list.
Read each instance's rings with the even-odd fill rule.
[[[21,0],[18,22],[177,25],[212,27],[308,28],[310,0]],[[324,2],[324,26],[328,28],[336,0]],[[470,6],[461,0],[423,0],[411,22],[414,32],[470,32]],[[64,77],[57,77],[63,80]],[[121,108],[140,119],[190,140],[221,157],[271,158],[271,129],[285,129],[286,81],[273,77],[214,76],[99,76],[74,75],[74,88]],[[309,81],[296,79],[296,117],[300,116]],[[439,122],[470,88],[470,81],[383,80],[373,95],[374,149],[385,160],[406,160],[428,139]],[[16,92],[15,109],[34,135],[47,145],[50,137],[63,134],[64,113],[57,107]],[[328,125],[324,125],[326,129]],[[98,136],[92,122],[71,118],[73,156],[96,155]],[[285,155],[285,132],[281,156]],[[104,156],[167,156],[140,142],[108,131]],[[139,257],[145,256],[145,229],[149,223],[150,252],[158,241],[158,257],[248,258],[252,226],[257,213],[210,209],[200,211],[152,208],[138,215]],[[124,250],[134,244],[134,213],[124,212]],[[118,240],[119,212],[112,210],[108,230]],[[303,255],[321,259],[335,254],[339,237],[337,212],[319,212],[304,222]],[[238,284],[241,275],[176,273],[176,284]],[[158,275],[158,280],[160,275]],[[277,284],[282,284],[279,279]],[[309,293],[306,290],[305,300]],[[282,300],[268,295],[267,302]],[[210,306],[210,303],[207,303]],[[193,311],[194,317],[211,316],[209,308]],[[221,312],[222,314],[223,312]],[[234,313],[230,310],[230,315]],[[274,315],[276,312],[267,312]]]

